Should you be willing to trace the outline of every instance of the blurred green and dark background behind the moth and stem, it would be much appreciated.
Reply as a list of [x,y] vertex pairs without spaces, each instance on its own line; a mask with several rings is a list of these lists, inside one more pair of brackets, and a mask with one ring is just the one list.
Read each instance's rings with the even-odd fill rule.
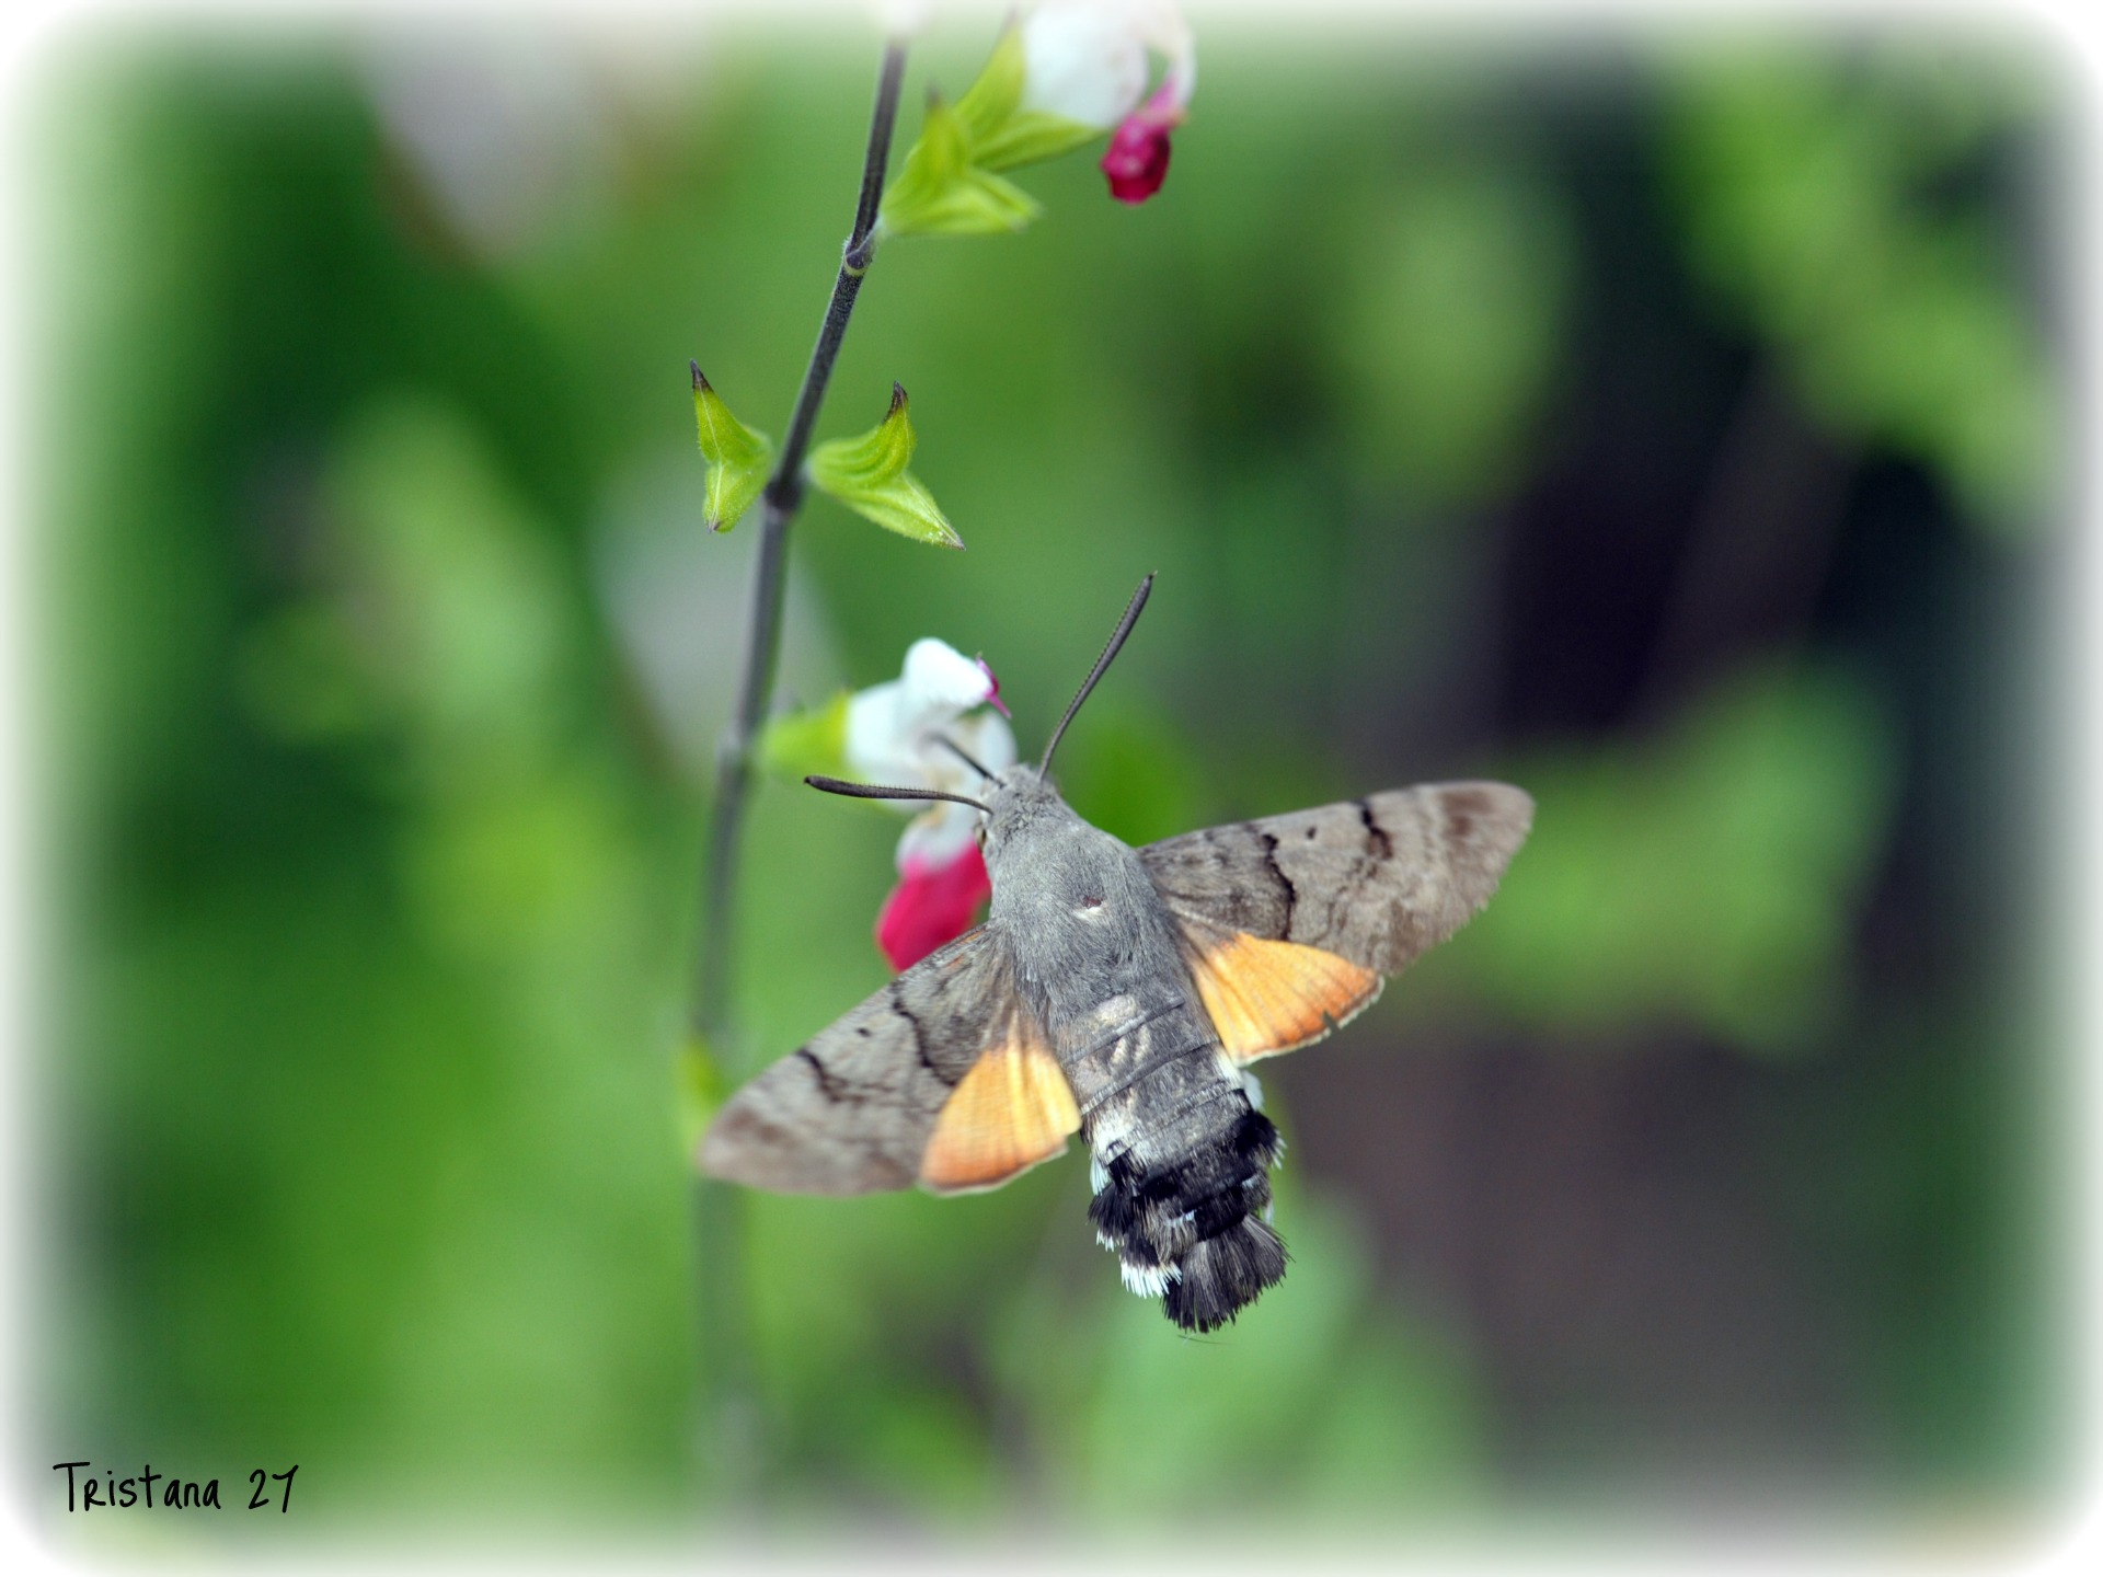
[[[46,48],[50,1461],[299,1461],[345,1529],[2053,1482],[2044,40],[1199,25],[1152,204],[1079,156],[879,254],[820,435],[904,383],[969,551],[814,498],[780,698],[934,633],[1035,749],[1159,570],[1062,749],[1098,824],[1535,795],[1485,917],[1266,1064],[1293,1268],[1211,1339],[1079,1156],[688,1163],[755,530],[700,532],[686,362],[782,431],[860,17]],[[900,153],[988,42],[915,50]],[[883,982],[898,826],[761,788],[728,1079]]]

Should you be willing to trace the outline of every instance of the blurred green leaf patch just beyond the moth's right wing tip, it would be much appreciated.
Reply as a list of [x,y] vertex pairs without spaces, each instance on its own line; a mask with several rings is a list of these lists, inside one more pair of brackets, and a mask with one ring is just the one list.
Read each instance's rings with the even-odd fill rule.
[[1455,948],[1485,999],[1607,1035],[1697,1026],[1809,1051],[1884,845],[1895,740],[1840,673],[1743,673],[1666,736],[1512,770],[1539,803],[1523,879]]

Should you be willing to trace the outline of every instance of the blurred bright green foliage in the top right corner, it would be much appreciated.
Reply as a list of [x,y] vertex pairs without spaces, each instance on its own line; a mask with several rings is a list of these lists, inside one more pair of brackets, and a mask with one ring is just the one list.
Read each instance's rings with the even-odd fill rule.
[[1943,469],[1981,524],[2034,526],[2055,456],[2046,351],[1968,191],[2031,105],[1992,53],[1767,48],[1672,74],[1689,254],[1836,431]]

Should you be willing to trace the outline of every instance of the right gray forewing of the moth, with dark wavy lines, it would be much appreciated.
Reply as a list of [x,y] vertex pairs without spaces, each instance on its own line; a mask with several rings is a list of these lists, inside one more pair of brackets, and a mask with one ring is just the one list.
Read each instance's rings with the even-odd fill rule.
[[1434,782],[1209,826],[1140,862],[1186,925],[1394,974],[1489,902],[1531,826],[1533,799],[1510,784]]

